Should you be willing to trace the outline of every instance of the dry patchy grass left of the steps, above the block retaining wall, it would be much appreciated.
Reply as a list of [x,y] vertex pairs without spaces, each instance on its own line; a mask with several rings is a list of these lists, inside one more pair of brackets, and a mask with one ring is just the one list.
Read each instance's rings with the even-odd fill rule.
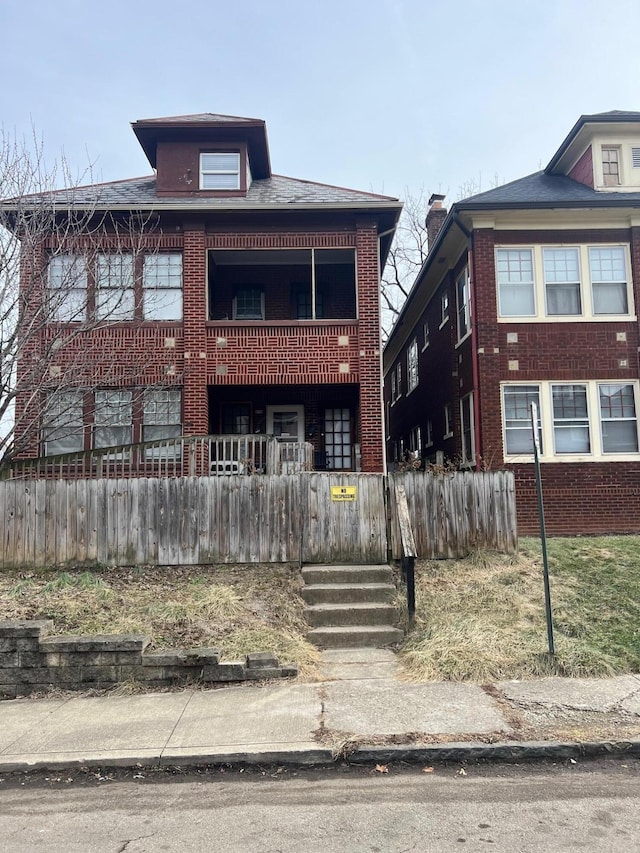
[[225,660],[271,651],[312,674],[318,651],[297,567],[280,565],[4,571],[0,618],[52,619],[56,634],[147,634],[163,648],[208,647]]

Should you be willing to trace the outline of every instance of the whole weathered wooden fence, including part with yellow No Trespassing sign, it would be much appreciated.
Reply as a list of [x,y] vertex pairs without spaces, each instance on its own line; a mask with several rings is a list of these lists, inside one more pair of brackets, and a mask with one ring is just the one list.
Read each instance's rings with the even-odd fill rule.
[[[511,474],[391,475],[398,479],[419,556],[515,548]],[[9,480],[0,482],[0,565],[383,563],[388,518],[390,551],[400,556],[389,491],[387,499],[382,475],[324,472]]]

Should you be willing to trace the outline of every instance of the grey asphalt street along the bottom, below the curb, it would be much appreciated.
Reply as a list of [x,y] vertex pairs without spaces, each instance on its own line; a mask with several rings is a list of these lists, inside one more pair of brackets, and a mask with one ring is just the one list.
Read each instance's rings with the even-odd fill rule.
[[[5,853],[640,850],[638,762],[338,771],[92,770],[0,785]],[[22,781],[21,781],[22,779]],[[6,783],[10,782],[9,785]]]

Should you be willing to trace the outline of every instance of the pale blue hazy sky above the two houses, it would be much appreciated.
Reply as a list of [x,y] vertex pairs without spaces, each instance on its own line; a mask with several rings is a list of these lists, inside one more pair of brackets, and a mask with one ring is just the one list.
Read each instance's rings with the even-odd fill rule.
[[638,0],[5,0],[0,32],[0,123],[101,180],[150,172],[130,121],[221,112],[277,173],[455,200],[640,109]]

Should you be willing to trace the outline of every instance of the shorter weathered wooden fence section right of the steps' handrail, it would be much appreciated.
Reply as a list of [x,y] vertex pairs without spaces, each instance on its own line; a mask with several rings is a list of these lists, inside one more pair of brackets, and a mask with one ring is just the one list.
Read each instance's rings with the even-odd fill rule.
[[515,551],[515,480],[511,471],[389,475],[391,555],[400,559],[400,528],[395,511],[395,483],[404,486],[418,556],[463,557],[473,548]]

